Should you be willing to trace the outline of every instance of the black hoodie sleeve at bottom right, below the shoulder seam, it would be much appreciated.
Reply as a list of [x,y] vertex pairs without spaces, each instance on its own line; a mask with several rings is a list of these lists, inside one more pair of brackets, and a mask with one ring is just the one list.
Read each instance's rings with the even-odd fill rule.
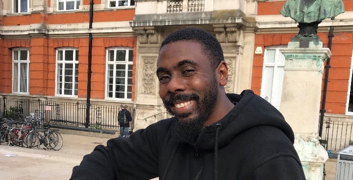
[[295,158],[280,156],[257,167],[248,180],[305,180],[305,176]]

